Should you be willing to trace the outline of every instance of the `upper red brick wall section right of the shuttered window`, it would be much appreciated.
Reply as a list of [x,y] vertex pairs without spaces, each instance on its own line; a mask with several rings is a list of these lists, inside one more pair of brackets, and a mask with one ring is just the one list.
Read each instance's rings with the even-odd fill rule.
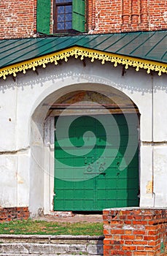
[[89,33],[167,29],[166,0],[88,0]]

